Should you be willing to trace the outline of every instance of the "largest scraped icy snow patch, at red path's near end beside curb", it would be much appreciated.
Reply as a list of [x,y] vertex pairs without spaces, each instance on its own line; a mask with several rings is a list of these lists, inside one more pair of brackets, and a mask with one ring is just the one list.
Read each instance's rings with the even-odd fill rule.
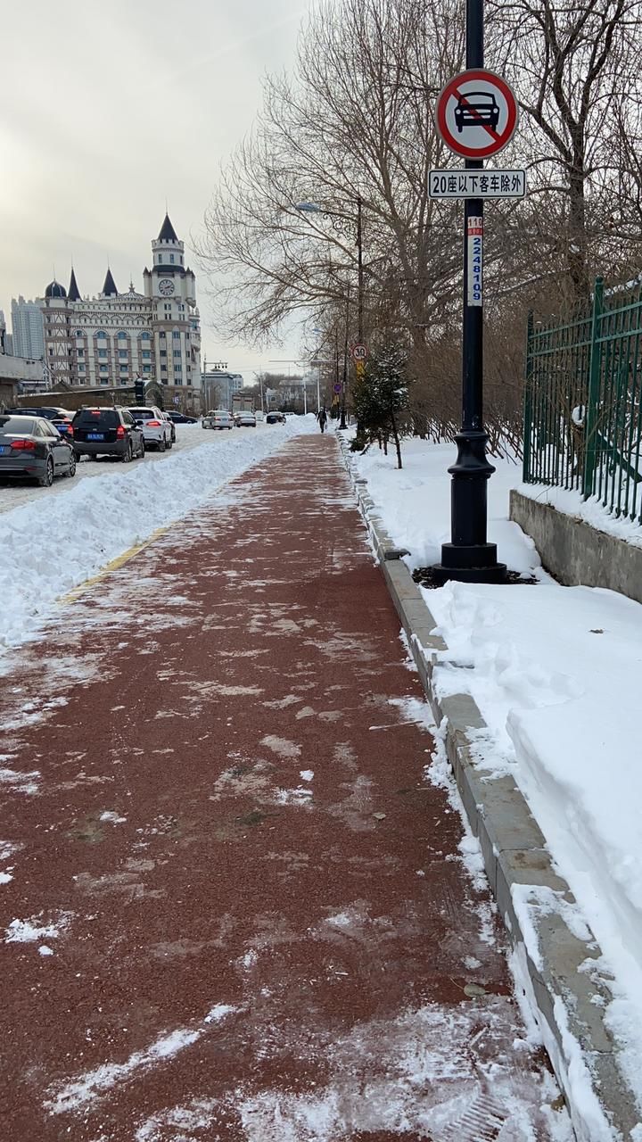
[[[531,1049],[514,1014],[509,1000],[492,996],[456,1008],[430,1004],[395,1020],[366,1021],[330,1044],[323,1042],[320,1083],[298,1084],[296,1092],[284,1081],[267,1089],[243,1083],[218,1097],[210,1088],[151,1115],[134,1137],[223,1137],[238,1129],[240,1118],[246,1142],[340,1142],[398,1134],[431,1142],[573,1142],[565,1109],[553,1109],[557,1088],[552,1077],[497,1064],[506,1027],[514,1026],[519,1055]],[[262,1049],[265,1061],[267,1044]],[[276,1039],[275,1060],[281,1051]]]

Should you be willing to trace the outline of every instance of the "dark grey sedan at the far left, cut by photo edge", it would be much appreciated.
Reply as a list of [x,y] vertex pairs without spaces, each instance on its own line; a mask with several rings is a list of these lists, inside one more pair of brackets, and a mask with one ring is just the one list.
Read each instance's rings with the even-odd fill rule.
[[0,476],[38,480],[49,488],[54,476],[74,475],[74,450],[49,420],[0,413]]

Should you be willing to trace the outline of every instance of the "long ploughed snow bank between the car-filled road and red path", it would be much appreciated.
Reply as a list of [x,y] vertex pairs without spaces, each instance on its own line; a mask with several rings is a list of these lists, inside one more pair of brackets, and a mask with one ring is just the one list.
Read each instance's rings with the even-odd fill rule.
[[105,564],[185,516],[284,442],[315,428],[313,416],[247,433],[199,428],[198,445],[160,453],[162,463],[83,464],[79,471],[91,467],[95,477],[58,481],[55,486],[63,486],[64,494],[42,496],[46,489],[32,488],[27,502],[0,515],[0,651],[33,635],[57,598]]

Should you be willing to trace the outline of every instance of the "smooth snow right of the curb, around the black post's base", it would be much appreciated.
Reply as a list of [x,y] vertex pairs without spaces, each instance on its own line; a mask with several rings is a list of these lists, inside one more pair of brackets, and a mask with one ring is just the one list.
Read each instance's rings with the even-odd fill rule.
[[[411,568],[438,562],[450,539],[455,451],[406,442],[401,472],[378,450],[355,461]],[[480,765],[514,775],[601,944],[615,975],[607,1018],[642,1103],[642,606],[554,582],[532,540],[507,520],[520,467],[493,463],[489,539],[511,569],[538,582],[425,592],[448,645],[434,682],[441,694],[473,694],[488,724],[476,740]]]

